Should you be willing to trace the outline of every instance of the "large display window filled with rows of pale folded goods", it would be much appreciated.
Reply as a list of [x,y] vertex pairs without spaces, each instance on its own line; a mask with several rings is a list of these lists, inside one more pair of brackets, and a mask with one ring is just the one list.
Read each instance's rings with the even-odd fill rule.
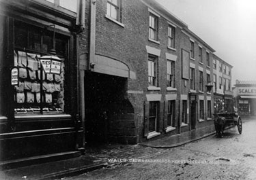
[[[19,84],[14,86],[14,111],[16,114],[63,113],[68,39],[60,35],[56,36],[57,55],[61,58],[61,73],[46,74],[39,58],[52,48],[53,38],[47,35],[51,32],[20,24],[16,22],[14,26],[14,66],[18,67],[19,71]],[[19,35],[20,32],[23,32],[22,36]],[[24,37],[27,41],[21,43],[20,38]]]

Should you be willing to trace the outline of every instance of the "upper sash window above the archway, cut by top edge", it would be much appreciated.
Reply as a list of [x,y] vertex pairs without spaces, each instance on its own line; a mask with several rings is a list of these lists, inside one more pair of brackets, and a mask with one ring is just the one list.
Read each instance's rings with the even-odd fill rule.
[[106,4],[106,14],[111,18],[120,21],[120,1],[108,0]]

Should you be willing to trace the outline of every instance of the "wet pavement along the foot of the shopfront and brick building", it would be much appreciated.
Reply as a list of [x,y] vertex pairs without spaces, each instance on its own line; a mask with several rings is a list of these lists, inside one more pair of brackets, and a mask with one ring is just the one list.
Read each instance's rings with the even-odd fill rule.
[[189,132],[183,132],[182,134],[164,137],[155,141],[143,142],[137,145],[109,144],[88,146],[85,148],[85,155],[76,158],[3,169],[0,171],[0,179],[42,180],[72,177],[98,168],[114,166],[114,163],[109,161],[110,158],[150,158],[159,153],[157,148],[167,149],[178,147],[215,134],[215,132],[209,130],[209,128],[199,128],[197,130],[191,130]]

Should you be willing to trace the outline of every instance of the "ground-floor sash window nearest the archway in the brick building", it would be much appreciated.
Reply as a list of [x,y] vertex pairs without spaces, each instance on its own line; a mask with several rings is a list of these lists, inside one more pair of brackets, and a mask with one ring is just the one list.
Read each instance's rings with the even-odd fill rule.
[[159,102],[150,102],[149,132],[156,132],[158,124]]

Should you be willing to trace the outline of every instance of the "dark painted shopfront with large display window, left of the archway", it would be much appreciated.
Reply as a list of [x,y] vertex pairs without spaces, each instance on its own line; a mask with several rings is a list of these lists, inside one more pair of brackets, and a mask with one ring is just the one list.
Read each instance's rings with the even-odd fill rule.
[[[0,1],[1,160],[83,147],[77,105],[76,13],[48,1]],[[53,48],[60,73],[40,57]],[[12,85],[11,69],[18,69]]]

